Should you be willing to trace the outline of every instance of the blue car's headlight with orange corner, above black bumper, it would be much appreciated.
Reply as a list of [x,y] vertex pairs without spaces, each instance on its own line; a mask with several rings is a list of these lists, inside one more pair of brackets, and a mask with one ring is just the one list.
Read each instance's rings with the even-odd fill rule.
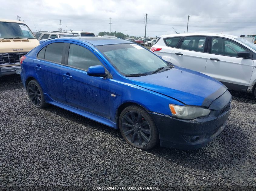
[[173,104],[169,104],[169,107],[172,115],[181,119],[195,119],[198,117],[207,116],[211,112],[211,110],[201,107],[179,106]]

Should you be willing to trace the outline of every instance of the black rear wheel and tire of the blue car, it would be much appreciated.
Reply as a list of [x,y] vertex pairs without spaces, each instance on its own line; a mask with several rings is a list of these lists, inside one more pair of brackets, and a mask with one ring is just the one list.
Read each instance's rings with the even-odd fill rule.
[[43,90],[36,80],[31,80],[28,82],[27,92],[33,106],[38,108],[48,106],[44,99]]

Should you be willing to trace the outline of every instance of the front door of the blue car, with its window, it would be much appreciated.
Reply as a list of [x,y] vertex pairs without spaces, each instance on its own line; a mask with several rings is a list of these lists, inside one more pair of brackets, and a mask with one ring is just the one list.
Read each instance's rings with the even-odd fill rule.
[[89,47],[70,44],[62,71],[66,104],[109,119],[109,78],[88,76],[87,69],[93,65],[107,67]]

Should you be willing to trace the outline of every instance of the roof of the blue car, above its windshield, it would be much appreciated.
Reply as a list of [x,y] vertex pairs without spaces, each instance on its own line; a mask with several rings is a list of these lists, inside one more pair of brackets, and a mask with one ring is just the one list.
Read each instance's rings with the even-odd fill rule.
[[83,41],[90,43],[93,46],[110,45],[110,44],[133,44],[131,41],[121,40],[117,38],[104,38],[104,37],[63,37],[55,38],[52,40],[71,40],[71,41]]

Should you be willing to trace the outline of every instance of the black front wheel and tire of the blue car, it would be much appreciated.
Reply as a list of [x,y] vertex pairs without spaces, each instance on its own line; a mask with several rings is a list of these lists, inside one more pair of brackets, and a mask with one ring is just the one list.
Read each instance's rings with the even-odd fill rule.
[[151,149],[159,142],[159,134],[154,120],[140,106],[126,107],[119,116],[121,135],[130,145],[140,149]]

